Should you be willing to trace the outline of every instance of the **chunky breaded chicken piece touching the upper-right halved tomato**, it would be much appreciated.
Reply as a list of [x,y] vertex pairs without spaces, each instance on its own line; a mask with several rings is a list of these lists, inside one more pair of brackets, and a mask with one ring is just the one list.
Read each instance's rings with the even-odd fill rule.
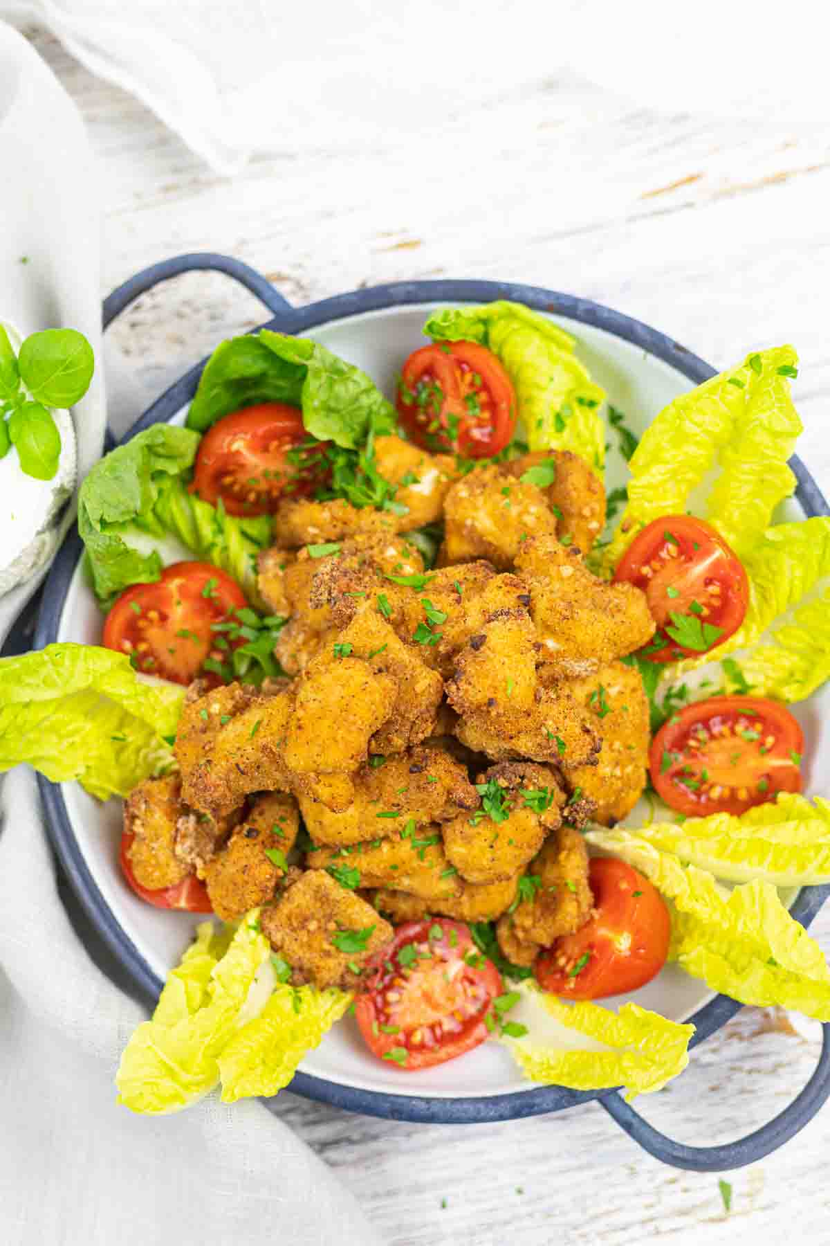
[[516,574],[530,589],[539,660],[557,675],[591,674],[655,634],[646,594],[633,584],[597,579],[575,546],[565,548],[553,537],[526,541]]

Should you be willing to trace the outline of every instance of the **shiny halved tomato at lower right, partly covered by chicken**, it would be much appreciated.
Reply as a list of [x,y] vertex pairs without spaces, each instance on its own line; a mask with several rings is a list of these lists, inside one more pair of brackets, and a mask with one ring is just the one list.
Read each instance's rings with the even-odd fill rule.
[[636,991],[660,973],[668,956],[668,910],[638,870],[594,857],[589,881],[596,917],[557,938],[534,967],[539,986],[565,999]]

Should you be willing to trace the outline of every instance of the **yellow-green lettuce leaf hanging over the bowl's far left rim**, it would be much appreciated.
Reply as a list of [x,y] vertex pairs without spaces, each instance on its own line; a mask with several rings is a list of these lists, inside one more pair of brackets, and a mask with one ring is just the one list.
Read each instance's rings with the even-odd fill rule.
[[170,764],[184,700],[147,682],[123,653],[50,644],[0,659],[0,771],[21,761],[52,782],[76,779],[106,800]]

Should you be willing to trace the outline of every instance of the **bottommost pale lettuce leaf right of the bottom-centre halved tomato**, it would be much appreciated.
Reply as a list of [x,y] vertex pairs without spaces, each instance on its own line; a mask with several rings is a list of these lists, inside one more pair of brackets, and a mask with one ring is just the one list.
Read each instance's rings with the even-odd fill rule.
[[668,1020],[635,1003],[612,1013],[594,1003],[565,1003],[534,983],[515,989],[541,1003],[559,1030],[551,1035],[545,1024],[540,1038],[531,1022],[523,1038],[501,1038],[534,1082],[572,1090],[623,1085],[630,1103],[638,1094],[662,1089],[688,1064],[694,1025]]

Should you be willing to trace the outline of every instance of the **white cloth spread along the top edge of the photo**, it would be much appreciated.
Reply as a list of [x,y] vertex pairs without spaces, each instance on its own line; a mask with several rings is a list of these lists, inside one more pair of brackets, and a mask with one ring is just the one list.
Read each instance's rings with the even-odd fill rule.
[[[818,7],[0,0],[0,14],[49,26],[88,70],[138,96],[228,176],[254,152],[346,155],[382,142],[412,142],[416,176],[429,136],[452,141],[459,116],[474,120],[531,85],[590,82],[663,112],[774,111],[815,123],[830,111],[824,40],[799,35],[815,29]],[[489,120],[482,111],[485,143]],[[505,141],[534,138],[505,132]]]

